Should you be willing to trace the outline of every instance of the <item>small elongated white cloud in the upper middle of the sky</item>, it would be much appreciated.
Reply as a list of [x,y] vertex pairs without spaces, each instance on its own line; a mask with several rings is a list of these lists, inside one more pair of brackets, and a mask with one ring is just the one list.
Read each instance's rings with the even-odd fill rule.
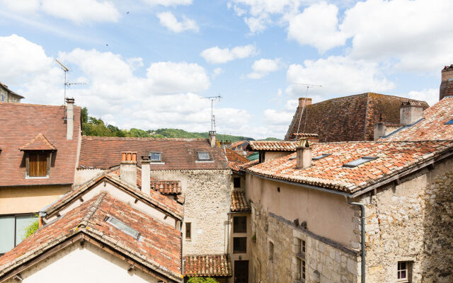
[[200,56],[211,64],[222,64],[235,59],[250,57],[254,54],[256,54],[256,48],[253,45],[236,46],[231,50],[216,46],[203,50]]

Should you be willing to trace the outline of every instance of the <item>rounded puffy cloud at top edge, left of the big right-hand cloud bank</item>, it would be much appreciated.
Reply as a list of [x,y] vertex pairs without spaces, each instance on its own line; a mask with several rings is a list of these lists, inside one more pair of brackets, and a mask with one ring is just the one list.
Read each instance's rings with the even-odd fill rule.
[[345,44],[338,30],[338,8],[333,4],[314,4],[289,19],[288,37],[300,45],[312,45],[320,52]]

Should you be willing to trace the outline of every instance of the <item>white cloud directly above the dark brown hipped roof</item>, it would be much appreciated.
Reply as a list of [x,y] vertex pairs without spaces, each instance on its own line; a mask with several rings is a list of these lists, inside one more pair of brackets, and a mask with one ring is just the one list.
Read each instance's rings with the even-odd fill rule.
[[[323,99],[394,88],[394,83],[382,74],[379,64],[341,56],[305,60],[303,66],[292,64],[287,70],[287,81],[322,85],[322,88],[310,88],[309,97],[317,95]],[[292,97],[300,97],[306,93],[306,86],[290,84],[286,91]]]

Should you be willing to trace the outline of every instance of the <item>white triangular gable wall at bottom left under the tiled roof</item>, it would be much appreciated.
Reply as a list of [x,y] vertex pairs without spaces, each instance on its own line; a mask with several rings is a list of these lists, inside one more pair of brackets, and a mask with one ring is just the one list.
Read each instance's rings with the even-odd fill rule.
[[[157,283],[158,279],[137,268],[128,272],[127,262],[86,242],[71,246],[21,272],[23,283]],[[17,283],[8,279],[7,283]]]

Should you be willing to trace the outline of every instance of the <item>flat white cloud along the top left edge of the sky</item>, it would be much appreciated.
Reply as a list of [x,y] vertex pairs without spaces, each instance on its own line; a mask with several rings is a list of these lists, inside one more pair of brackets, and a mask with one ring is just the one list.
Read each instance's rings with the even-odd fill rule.
[[46,13],[56,18],[86,22],[116,22],[120,13],[110,1],[98,0],[1,0],[8,10],[16,13]]

